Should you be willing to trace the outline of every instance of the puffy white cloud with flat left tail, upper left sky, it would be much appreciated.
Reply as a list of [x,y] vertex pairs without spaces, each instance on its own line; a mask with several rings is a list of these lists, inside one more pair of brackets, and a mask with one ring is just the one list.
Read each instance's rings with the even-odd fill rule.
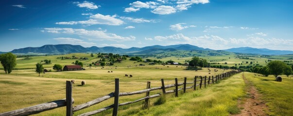
[[120,19],[115,18],[117,15],[103,15],[103,14],[95,14],[90,15],[88,20],[85,21],[69,21],[69,22],[57,22],[55,24],[59,25],[76,25],[76,24],[83,24],[83,25],[96,25],[96,24],[103,24],[103,25],[122,25],[124,22]]

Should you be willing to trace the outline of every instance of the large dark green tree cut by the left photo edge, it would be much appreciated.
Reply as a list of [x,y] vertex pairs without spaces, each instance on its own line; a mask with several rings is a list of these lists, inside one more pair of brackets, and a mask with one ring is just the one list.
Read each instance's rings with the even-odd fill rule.
[[1,54],[0,61],[6,74],[11,73],[12,69],[17,65],[16,56],[10,52],[6,54]]

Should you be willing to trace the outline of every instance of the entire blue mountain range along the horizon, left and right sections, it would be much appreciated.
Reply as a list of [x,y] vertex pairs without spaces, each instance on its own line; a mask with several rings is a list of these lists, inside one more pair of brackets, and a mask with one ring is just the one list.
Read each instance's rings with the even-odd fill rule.
[[[164,53],[167,51],[177,50],[198,50],[198,51],[212,51],[212,49],[202,48],[190,44],[177,44],[177,45],[153,45],[146,47],[131,47],[131,48],[120,48],[120,47],[83,47],[81,45],[71,44],[56,44],[56,45],[43,45],[41,47],[26,47],[20,49],[14,49],[11,52],[14,54],[69,54],[69,53],[123,53],[123,54],[157,54]],[[265,48],[252,48],[252,47],[239,47],[231,48],[223,51],[234,52],[234,53],[245,53],[245,54],[258,54],[258,55],[286,55],[293,54],[293,51],[288,50],[270,50]],[[0,52],[0,54],[5,52]]]

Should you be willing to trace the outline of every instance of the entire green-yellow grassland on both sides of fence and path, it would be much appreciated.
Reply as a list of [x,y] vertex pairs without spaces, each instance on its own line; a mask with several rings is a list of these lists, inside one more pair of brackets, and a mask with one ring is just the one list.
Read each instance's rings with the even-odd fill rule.
[[[171,52],[172,53],[172,52]],[[170,54],[171,54],[170,53]],[[190,53],[188,51],[179,52],[180,54]],[[179,54],[178,53],[178,54]],[[169,54],[169,53],[167,53]],[[172,53],[175,54],[175,53]],[[206,54],[206,53],[205,53]],[[224,53],[223,53],[224,54]],[[87,57],[87,60],[80,60],[84,63],[84,71],[71,72],[55,72],[52,70],[54,64],[72,65],[77,59],[61,59],[60,57]],[[203,54],[204,55],[204,54]],[[121,63],[114,63],[113,66],[88,67],[88,64],[100,60],[100,58],[90,57],[90,54],[69,54],[57,56],[36,56],[29,58],[17,58],[17,70],[13,70],[10,74],[5,74],[0,70],[0,113],[19,108],[24,108],[44,102],[50,102],[65,98],[65,84],[66,80],[74,79],[76,84],[73,87],[73,98],[75,100],[73,106],[82,104],[96,98],[102,97],[114,91],[114,79],[120,78],[120,92],[130,92],[145,89],[146,82],[151,82],[151,87],[160,87],[160,79],[164,78],[165,85],[173,84],[174,78],[178,78],[180,83],[183,82],[184,77],[191,82],[194,76],[211,76],[224,73],[230,70],[217,69],[218,72],[208,72],[207,68],[198,70],[189,70],[186,66],[176,65],[149,65],[149,62],[137,62],[128,59]],[[244,56],[243,56],[244,57]],[[286,56],[287,57],[287,56]],[[157,59],[156,57],[145,57],[145,59]],[[185,63],[191,60],[189,57],[167,57],[157,60]],[[248,59],[241,59],[235,54],[222,56],[203,56],[200,58],[207,59],[209,63],[216,62],[215,65],[235,66],[235,64],[242,63],[247,65],[265,65],[268,58],[248,57]],[[245,57],[244,57],[245,58]],[[35,64],[44,59],[50,59],[51,64],[43,64],[45,69],[52,70],[52,72],[35,73]],[[284,59],[278,59],[284,60]],[[288,60],[288,59],[286,59]],[[254,61],[253,64],[246,64],[245,62]],[[227,62],[225,64],[224,62]],[[218,64],[219,63],[219,64]],[[145,64],[145,66],[138,66]],[[237,65],[238,66],[238,65]],[[1,67],[2,68],[2,67]],[[113,73],[108,73],[112,71]],[[210,73],[210,74],[209,74]],[[125,77],[125,74],[133,75],[132,78]],[[245,77],[253,82],[253,84],[263,94],[263,100],[269,107],[266,113],[272,116],[290,116],[293,107],[292,102],[292,80],[285,76],[283,82],[273,81],[274,77],[256,76],[254,73],[244,73]],[[258,74],[257,74],[258,75]],[[174,94],[168,94],[166,103],[161,105],[154,105],[157,100],[151,99],[151,107],[149,110],[141,110],[142,102],[137,102],[130,105],[121,106],[119,108],[119,116],[229,116],[231,114],[240,113],[238,101],[245,99],[245,84],[241,77],[241,73],[236,74],[228,79],[221,81],[218,84],[210,85],[206,89],[193,91],[189,89],[187,93],[179,92],[179,97],[174,97]],[[80,86],[81,81],[86,81],[86,86]],[[172,90],[174,88],[169,88]],[[160,93],[160,90],[155,90],[150,93],[154,95]],[[120,103],[138,100],[144,97],[145,94],[138,94],[132,96],[123,96],[120,98]],[[113,103],[113,99],[93,105],[89,108],[80,110],[74,113],[77,116],[82,113],[97,110]],[[36,116],[64,116],[66,108],[57,108],[51,111],[46,111]],[[97,116],[110,116],[112,110],[105,111]]]

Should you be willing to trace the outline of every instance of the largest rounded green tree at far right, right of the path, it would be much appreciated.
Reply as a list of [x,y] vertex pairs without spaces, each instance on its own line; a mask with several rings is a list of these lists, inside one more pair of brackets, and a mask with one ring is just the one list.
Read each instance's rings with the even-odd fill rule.
[[284,67],[286,64],[279,60],[270,61],[267,65],[270,69],[270,73],[272,73],[275,77],[282,74],[284,71]]

